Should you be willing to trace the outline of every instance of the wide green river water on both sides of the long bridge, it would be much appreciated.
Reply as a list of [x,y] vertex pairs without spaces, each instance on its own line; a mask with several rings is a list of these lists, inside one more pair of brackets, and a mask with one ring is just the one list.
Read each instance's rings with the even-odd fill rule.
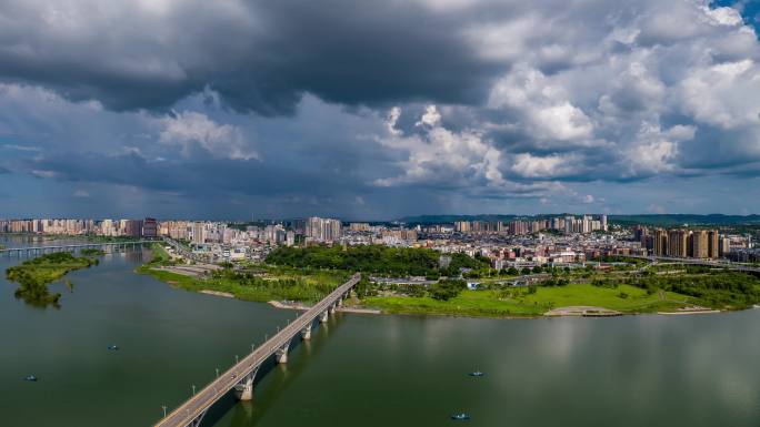
[[[0,236],[0,244],[30,244]],[[77,271],[60,308],[0,278],[0,425],[148,426],[297,313],[138,275],[149,251]],[[4,272],[18,263],[0,256]],[[117,344],[118,350],[109,350]],[[760,309],[477,319],[338,314],[208,427],[760,425]],[[483,377],[467,374],[479,369]],[[24,382],[33,374],[39,382]],[[467,411],[469,421],[449,415]]]

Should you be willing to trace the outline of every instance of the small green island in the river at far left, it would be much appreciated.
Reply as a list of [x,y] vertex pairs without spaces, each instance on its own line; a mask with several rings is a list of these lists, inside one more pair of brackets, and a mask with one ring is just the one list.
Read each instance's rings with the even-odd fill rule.
[[[6,278],[19,284],[14,296],[36,306],[58,306],[59,293],[50,293],[48,285],[61,279],[67,273],[97,265],[98,260],[73,256],[68,252],[46,254],[6,270]],[[67,283],[72,288],[71,283]]]

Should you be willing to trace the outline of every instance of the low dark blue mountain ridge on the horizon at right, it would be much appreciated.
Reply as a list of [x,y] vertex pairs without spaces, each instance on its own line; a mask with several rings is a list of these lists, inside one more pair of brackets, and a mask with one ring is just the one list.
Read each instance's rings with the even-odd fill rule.
[[[480,214],[480,215],[417,215],[404,216],[398,222],[407,224],[446,224],[454,223],[457,221],[488,221],[488,222],[509,222],[514,218],[547,218],[554,216],[567,216],[572,214],[541,214],[541,215],[499,215],[499,214]],[[580,216],[580,214],[576,214]],[[597,216],[594,214],[594,216]],[[676,226],[681,224],[689,225],[740,225],[740,224],[760,224],[760,215],[723,215],[723,214],[641,214],[641,215],[608,215],[610,223],[623,225],[660,225],[660,226]]]

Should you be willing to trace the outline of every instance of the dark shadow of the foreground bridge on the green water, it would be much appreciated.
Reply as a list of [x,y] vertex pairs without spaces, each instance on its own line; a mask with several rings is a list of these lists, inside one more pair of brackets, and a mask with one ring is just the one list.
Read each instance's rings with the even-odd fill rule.
[[[324,345],[329,344],[327,338],[330,334],[333,334],[340,328],[342,319],[342,313],[336,313],[330,316],[327,324],[320,324],[314,319],[312,323],[310,340],[302,339],[301,334],[298,334],[290,342],[290,347],[288,348],[288,363],[278,364],[272,355],[261,364],[259,373],[256,375],[253,382],[252,400],[238,400],[234,396],[234,390],[230,390],[209,408],[206,417],[203,417],[201,427],[214,426],[230,410],[234,410],[236,406],[240,406],[242,410],[234,411],[230,425],[256,425],[272,400],[286,390],[290,384],[309,367],[309,360],[316,356]],[[271,377],[270,374],[272,374]],[[260,397],[263,399],[260,399]]]

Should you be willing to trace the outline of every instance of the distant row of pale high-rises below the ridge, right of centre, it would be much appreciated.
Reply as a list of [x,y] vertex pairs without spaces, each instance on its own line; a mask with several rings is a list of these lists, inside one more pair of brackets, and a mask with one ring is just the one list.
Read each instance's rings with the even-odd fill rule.
[[[440,230],[440,228],[439,228]],[[538,220],[501,221],[458,221],[453,224],[453,231],[463,234],[502,233],[511,235],[526,235],[553,230],[566,234],[588,234],[596,231],[608,231],[607,215],[573,215],[557,216]]]

